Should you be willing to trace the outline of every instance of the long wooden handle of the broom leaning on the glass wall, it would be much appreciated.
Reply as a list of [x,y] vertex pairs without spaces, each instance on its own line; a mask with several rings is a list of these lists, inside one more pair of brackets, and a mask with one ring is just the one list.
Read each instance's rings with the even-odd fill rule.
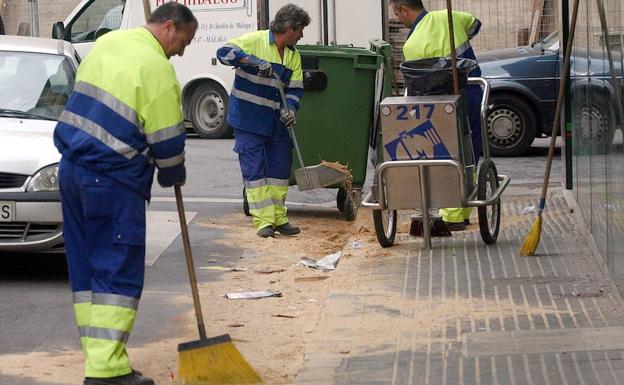
[[555,112],[555,120],[553,120],[553,128],[550,133],[550,148],[548,149],[548,159],[546,160],[546,171],[544,171],[544,184],[542,185],[542,196],[540,199],[539,214],[544,211],[546,204],[546,193],[548,192],[548,180],[550,179],[550,169],[552,167],[552,160],[555,155],[555,142],[557,141],[557,135],[559,133],[559,125],[561,124],[561,110],[563,108],[563,101],[565,100],[565,88],[568,83],[568,77],[570,76],[570,56],[572,54],[572,46],[574,45],[574,33],[576,30],[576,17],[578,15],[579,0],[574,0],[574,9],[572,11],[572,21],[570,23],[570,36],[568,38],[568,44],[566,46],[565,56],[563,58],[563,75],[559,81],[559,97],[557,98],[557,109]]

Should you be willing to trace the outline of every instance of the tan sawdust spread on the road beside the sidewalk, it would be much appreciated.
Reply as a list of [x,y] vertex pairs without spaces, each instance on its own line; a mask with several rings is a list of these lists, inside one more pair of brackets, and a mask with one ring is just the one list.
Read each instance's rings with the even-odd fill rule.
[[[261,239],[255,235],[251,220],[233,215],[210,223],[208,228],[227,229],[220,240],[228,246],[248,251],[239,267],[249,271],[222,274],[217,282],[200,285],[210,334],[229,333],[243,356],[268,384],[292,383],[303,365],[303,353],[315,331],[334,272],[322,272],[297,263],[303,257],[320,259],[345,248],[358,237],[371,238],[370,213],[356,222],[347,222],[335,208],[315,208],[289,214],[301,227],[296,237],[276,235]],[[349,253],[343,254],[341,268]],[[273,290],[281,297],[258,300],[228,300],[225,293]]]

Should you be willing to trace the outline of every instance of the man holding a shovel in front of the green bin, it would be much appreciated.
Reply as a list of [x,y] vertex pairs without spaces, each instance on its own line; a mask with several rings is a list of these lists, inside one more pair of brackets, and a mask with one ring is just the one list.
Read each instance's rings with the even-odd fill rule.
[[[234,128],[249,212],[260,237],[296,235],[299,228],[286,215],[286,194],[292,166],[292,141],[286,126],[295,123],[303,96],[301,56],[294,45],[303,37],[310,16],[287,4],[270,30],[250,32],[217,51],[221,63],[236,67],[228,123]],[[286,94],[281,105],[279,88]]]

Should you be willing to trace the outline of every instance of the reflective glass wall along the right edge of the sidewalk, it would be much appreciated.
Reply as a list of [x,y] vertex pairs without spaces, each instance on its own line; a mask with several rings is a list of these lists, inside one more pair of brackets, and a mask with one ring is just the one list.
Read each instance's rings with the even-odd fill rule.
[[[611,275],[624,292],[624,141],[617,122],[622,100],[622,45],[612,47],[616,86],[609,55],[601,44],[597,2],[581,2],[575,29],[571,82],[571,169],[580,212]],[[570,0],[570,7],[573,1]],[[609,33],[624,31],[621,0],[604,0]],[[571,12],[570,12],[571,13]],[[591,70],[590,70],[591,69]],[[591,84],[592,86],[588,86]]]

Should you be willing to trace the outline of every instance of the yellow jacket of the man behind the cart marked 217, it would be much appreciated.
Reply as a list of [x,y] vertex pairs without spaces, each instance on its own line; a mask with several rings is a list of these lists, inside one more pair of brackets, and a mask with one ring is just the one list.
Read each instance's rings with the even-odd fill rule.
[[[414,24],[411,34],[403,45],[405,60],[449,57],[451,55],[446,9],[427,12],[418,18]],[[480,28],[481,22],[473,15],[453,11],[453,33],[455,34],[455,51],[458,58],[476,60],[470,39],[479,32]],[[470,76],[481,76],[479,67],[473,70]]]

